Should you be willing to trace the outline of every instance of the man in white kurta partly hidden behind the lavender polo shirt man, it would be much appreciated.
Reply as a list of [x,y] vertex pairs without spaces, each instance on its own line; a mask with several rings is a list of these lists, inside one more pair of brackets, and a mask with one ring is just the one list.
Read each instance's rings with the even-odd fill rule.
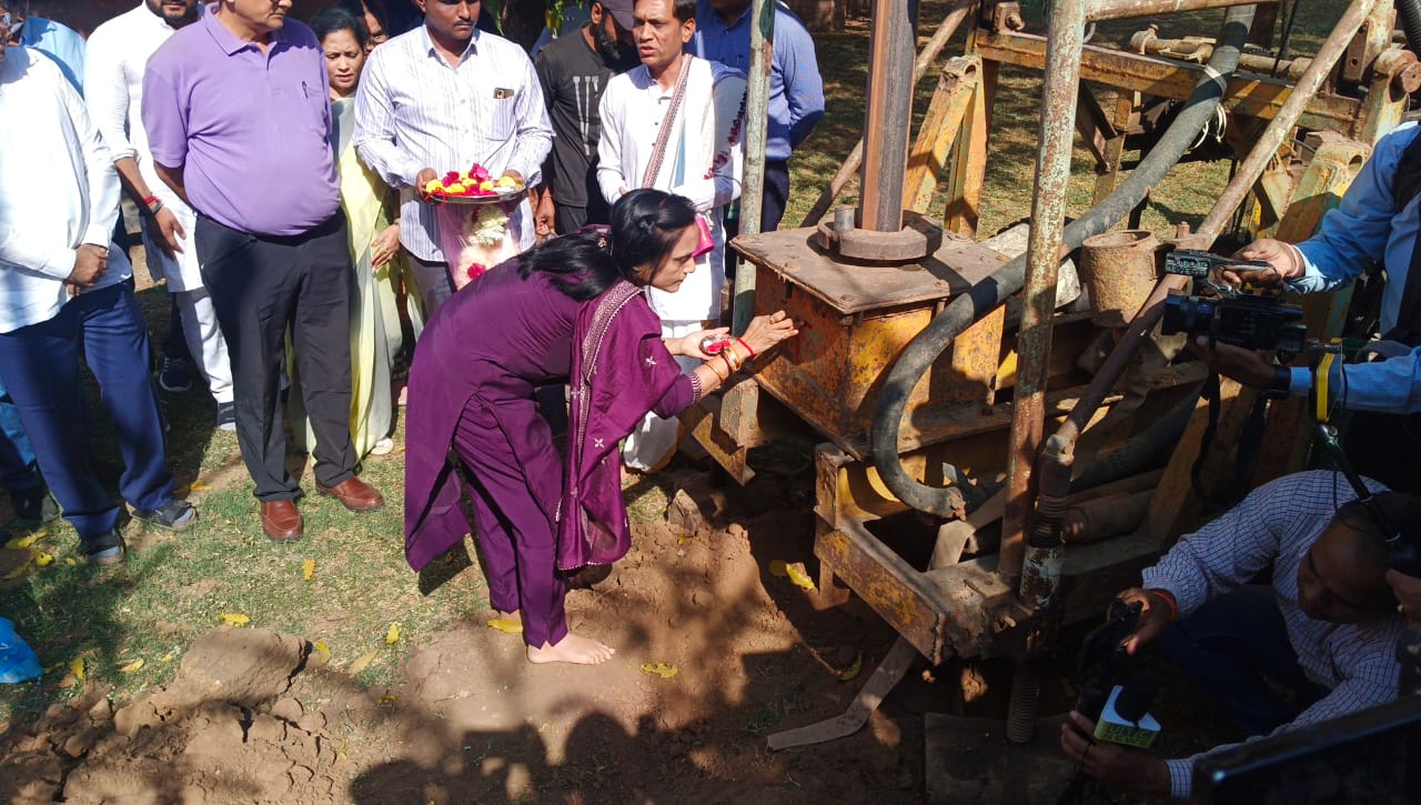
[[212,297],[198,270],[193,243],[196,216],[158,181],[144,129],[144,70],[148,57],[182,26],[198,20],[198,0],[183,0],[185,13],[172,14],[161,0],[141,0],[136,9],[108,20],[88,40],[85,101],[90,117],[114,154],[119,178],[138,205],[144,225],[148,273],[166,279],[182,317],[188,351],[198,358],[207,390],[217,401],[217,427],[236,430],[232,404],[232,366],[217,327]]

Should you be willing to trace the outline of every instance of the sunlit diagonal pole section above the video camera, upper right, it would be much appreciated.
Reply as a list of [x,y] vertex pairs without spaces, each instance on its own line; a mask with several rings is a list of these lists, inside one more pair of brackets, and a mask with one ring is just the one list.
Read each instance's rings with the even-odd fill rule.
[[1263,169],[1268,168],[1277,148],[1287,139],[1293,127],[1297,125],[1297,118],[1307,108],[1307,102],[1322,88],[1323,81],[1327,80],[1327,74],[1331,73],[1337,60],[1347,53],[1347,46],[1357,34],[1367,14],[1371,13],[1373,6],[1376,6],[1376,0],[1356,0],[1347,6],[1347,11],[1337,20],[1337,27],[1333,28],[1331,36],[1317,50],[1317,55],[1313,57],[1312,64],[1307,65],[1297,84],[1293,85],[1293,91],[1287,94],[1287,100],[1277,110],[1277,115],[1263,129],[1263,135],[1253,144],[1253,149],[1249,151],[1248,158],[1239,165],[1238,172],[1233,174],[1233,179],[1223,188],[1219,199],[1214,202],[1214,208],[1204,218],[1204,223],[1199,225],[1195,235],[1187,239],[1188,245],[1194,245],[1198,249],[1208,249],[1219,233],[1223,232],[1223,226],[1233,215],[1233,210],[1243,202],[1243,196],[1253,186],[1253,182],[1263,175]]

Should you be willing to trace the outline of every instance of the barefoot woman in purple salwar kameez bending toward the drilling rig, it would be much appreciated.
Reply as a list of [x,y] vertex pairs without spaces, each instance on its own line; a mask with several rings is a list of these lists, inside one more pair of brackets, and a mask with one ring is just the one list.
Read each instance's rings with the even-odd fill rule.
[[[612,649],[571,634],[558,570],[605,565],[630,546],[617,442],[648,412],[671,417],[753,356],[794,336],[783,313],[756,317],[710,356],[706,336],[662,341],[641,289],[672,292],[695,269],[691,202],[632,191],[611,232],[580,232],[509,260],[445,303],[409,373],[405,553],[419,570],[469,533],[489,600],[519,613],[533,663],[605,661]],[[702,358],[681,373],[674,354]],[[534,390],[571,378],[567,472]],[[472,523],[460,509],[466,469]]]

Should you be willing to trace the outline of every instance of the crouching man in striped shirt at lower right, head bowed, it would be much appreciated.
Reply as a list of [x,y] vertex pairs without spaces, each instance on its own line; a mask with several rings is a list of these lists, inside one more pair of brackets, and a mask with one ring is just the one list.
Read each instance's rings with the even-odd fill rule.
[[[1415,539],[1421,501],[1367,485],[1381,492],[1377,501],[1393,525]],[[1403,629],[1387,559],[1383,536],[1341,475],[1279,478],[1184,536],[1145,569],[1144,589],[1120,595],[1144,606],[1125,650],[1134,654],[1158,637],[1194,687],[1249,737],[1384,704],[1397,695]],[[1272,583],[1258,583],[1269,567]],[[1302,711],[1276,687],[1289,688]],[[1087,734],[1094,730],[1079,713],[1071,718]],[[1088,744],[1069,723],[1061,748],[1098,779],[1177,798],[1189,796],[1194,762],[1202,757],[1165,761]]]

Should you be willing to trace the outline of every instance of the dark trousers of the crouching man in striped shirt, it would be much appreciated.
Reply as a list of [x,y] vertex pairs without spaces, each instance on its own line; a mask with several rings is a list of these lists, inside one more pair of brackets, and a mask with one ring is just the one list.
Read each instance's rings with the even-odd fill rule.
[[[1268,585],[1239,587],[1205,603],[1171,624],[1160,646],[1189,684],[1249,735],[1272,732],[1327,695],[1327,688],[1309,680],[1297,664]],[[1265,680],[1292,691],[1296,704]]]

